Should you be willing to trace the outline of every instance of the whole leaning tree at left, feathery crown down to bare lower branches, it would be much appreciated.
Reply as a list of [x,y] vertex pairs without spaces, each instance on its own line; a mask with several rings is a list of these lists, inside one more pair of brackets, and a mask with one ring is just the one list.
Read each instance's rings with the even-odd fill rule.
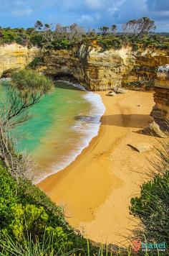
[[37,104],[54,85],[35,70],[18,70],[11,78],[6,102],[2,102],[0,109],[0,157],[17,180],[28,170],[29,159],[14,153],[13,142],[9,138],[11,128],[25,122],[29,108]]

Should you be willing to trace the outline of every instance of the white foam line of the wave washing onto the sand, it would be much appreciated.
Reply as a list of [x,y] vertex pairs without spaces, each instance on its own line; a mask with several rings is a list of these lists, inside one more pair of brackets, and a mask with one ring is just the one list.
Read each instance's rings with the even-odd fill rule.
[[[82,91],[86,91],[86,89],[78,83],[74,84],[69,81],[58,81],[58,82],[67,83],[74,87],[80,88]],[[64,161],[62,163],[58,163],[56,166],[52,167],[51,173],[44,174],[43,177],[34,180],[34,183],[39,183],[40,181],[47,178],[49,175],[57,173],[63,170],[64,168],[66,168],[68,165],[74,162],[74,160],[77,158],[78,155],[81,154],[84,148],[88,147],[92,138],[97,136],[100,129],[100,119],[102,115],[105,113],[105,105],[102,102],[101,96],[97,93],[93,93],[92,91],[86,91],[86,93],[83,95],[83,98],[89,101],[90,104],[92,104],[92,109],[90,111],[90,114],[89,116],[87,116],[89,120],[88,122],[84,119],[81,120],[81,122],[83,122],[82,124],[80,124],[80,120],[79,120],[79,127],[76,127],[77,123],[75,124],[74,127],[72,127],[73,129],[77,129],[78,132],[82,132],[82,135],[83,135],[82,141],[79,143],[79,146],[76,148],[76,150],[72,150],[72,152],[70,152],[70,155],[68,157],[67,156],[64,157]],[[87,127],[85,127],[85,129],[82,130],[84,122],[87,125]]]

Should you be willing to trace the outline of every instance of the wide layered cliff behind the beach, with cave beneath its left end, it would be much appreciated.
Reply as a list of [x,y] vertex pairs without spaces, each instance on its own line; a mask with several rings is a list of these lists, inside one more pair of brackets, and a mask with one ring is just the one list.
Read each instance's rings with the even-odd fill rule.
[[156,68],[169,63],[167,50],[153,48],[102,51],[98,45],[81,45],[72,50],[44,53],[44,70],[49,76],[72,75],[92,91],[111,90],[114,86],[142,90],[153,86]]

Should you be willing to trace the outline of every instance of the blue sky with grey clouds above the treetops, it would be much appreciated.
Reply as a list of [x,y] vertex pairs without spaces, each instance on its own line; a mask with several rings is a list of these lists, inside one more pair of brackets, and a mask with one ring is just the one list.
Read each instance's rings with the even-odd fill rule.
[[169,32],[169,0],[0,0],[1,27],[77,23],[86,29],[150,17],[158,32]]

